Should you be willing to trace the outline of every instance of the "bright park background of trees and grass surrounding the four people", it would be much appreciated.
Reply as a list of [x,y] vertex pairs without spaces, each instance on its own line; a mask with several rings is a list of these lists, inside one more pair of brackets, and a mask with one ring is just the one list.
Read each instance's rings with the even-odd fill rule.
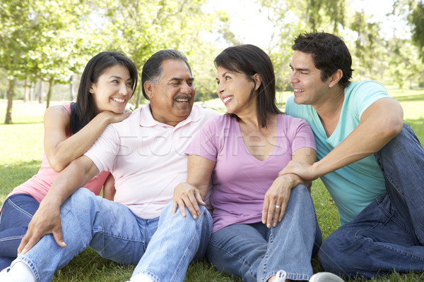
[[[75,99],[83,67],[98,52],[121,51],[141,72],[155,51],[178,49],[191,63],[196,103],[224,113],[213,59],[225,47],[255,44],[273,61],[284,109],[292,90],[293,39],[311,30],[343,37],[353,56],[353,80],[384,84],[424,140],[423,1],[0,0],[0,202],[40,168],[44,111]],[[146,104],[141,87],[131,104]],[[320,180],[312,198],[326,238],[340,225],[336,206]],[[317,259],[313,266],[322,271]],[[133,270],[86,250],[54,281],[126,281]],[[240,280],[202,261],[189,266],[186,281]],[[424,281],[424,274],[373,281]]]

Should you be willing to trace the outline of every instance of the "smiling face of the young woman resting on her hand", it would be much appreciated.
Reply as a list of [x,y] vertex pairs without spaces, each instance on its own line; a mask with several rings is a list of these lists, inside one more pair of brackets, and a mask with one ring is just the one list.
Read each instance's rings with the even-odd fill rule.
[[112,111],[116,114],[124,112],[126,103],[132,94],[132,81],[129,71],[122,65],[107,68],[98,81],[90,87],[95,102],[96,114]]

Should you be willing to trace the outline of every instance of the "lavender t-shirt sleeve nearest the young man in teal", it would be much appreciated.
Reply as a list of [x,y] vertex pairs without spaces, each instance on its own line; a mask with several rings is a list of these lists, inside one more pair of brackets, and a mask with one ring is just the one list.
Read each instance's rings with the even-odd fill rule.
[[317,151],[317,145],[315,144],[314,133],[310,128],[310,125],[301,118],[295,118],[295,122],[291,123],[293,126],[293,141],[292,141],[292,152],[302,148],[312,148]]

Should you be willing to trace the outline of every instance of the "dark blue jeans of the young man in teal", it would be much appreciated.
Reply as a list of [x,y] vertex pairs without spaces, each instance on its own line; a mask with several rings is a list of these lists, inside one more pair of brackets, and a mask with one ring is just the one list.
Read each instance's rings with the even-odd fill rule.
[[424,149],[405,124],[375,159],[387,192],[324,240],[326,271],[372,278],[424,269]]

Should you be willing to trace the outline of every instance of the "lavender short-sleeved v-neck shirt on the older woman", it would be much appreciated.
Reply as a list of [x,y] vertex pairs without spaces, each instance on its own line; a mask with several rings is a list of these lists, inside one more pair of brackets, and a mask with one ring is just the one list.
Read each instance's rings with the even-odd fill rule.
[[211,194],[213,232],[235,223],[261,221],[265,192],[292,153],[304,147],[316,150],[306,121],[285,114],[278,115],[276,136],[265,142],[275,147],[267,159],[259,161],[247,151],[237,120],[226,114],[206,122],[187,149],[187,154],[216,162]]

